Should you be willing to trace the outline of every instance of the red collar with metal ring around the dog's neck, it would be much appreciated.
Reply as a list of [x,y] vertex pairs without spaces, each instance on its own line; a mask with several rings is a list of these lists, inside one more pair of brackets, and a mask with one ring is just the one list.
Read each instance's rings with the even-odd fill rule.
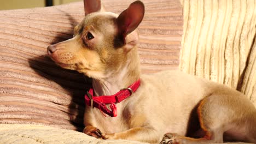
[[[102,112],[106,113],[110,117],[117,116],[117,106],[114,103],[120,103],[124,99],[128,98],[135,92],[139,85],[141,84],[141,80],[136,81],[131,86],[127,88],[121,89],[118,93],[114,95],[102,95],[102,96],[94,96],[94,89],[90,89],[87,94],[84,95],[85,104],[94,107],[97,107]],[[110,104],[111,111],[107,108],[106,104]]]

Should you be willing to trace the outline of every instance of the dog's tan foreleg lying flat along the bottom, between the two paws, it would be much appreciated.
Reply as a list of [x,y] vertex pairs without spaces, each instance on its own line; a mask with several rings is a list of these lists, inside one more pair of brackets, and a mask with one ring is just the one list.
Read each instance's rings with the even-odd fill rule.
[[121,131],[119,133],[113,134],[102,134],[107,139],[123,139],[123,140],[135,140],[135,141],[143,141],[149,143],[157,143],[160,142],[161,136],[157,133],[156,130],[152,128],[131,128],[126,131]]

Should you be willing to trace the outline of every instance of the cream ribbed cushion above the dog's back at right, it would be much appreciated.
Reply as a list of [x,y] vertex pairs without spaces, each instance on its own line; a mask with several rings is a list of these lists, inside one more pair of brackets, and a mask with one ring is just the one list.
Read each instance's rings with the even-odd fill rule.
[[256,106],[255,1],[181,3],[181,70],[238,89]]

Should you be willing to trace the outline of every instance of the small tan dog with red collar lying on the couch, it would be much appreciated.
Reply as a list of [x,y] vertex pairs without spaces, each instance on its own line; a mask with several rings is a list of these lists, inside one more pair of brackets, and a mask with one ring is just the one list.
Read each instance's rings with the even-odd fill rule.
[[[92,78],[85,134],[151,143],[166,133],[161,143],[256,143],[256,110],[240,92],[178,71],[140,74],[136,28],[144,16],[142,2],[120,15],[104,12],[100,0],[84,4],[74,37],[50,45],[48,53],[62,68]],[[191,132],[194,138],[185,137]]]

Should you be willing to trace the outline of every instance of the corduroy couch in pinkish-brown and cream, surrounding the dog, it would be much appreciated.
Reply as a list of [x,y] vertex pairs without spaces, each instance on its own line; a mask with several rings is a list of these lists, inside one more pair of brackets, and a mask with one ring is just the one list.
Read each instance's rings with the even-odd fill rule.
[[[142,1],[143,74],[180,69],[237,89],[256,105],[253,1]],[[114,13],[131,2],[102,0]],[[139,143],[78,132],[90,79],[55,65],[46,47],[71,38],[83,16],[83,2],[0,11],[0,143]]]

